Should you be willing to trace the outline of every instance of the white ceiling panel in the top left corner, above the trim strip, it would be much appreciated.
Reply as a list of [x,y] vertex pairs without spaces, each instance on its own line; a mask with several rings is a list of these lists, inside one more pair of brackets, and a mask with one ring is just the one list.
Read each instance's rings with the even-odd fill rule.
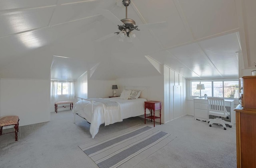
[[58,0],[1,0],[0,11],[54,6],[57,1]]

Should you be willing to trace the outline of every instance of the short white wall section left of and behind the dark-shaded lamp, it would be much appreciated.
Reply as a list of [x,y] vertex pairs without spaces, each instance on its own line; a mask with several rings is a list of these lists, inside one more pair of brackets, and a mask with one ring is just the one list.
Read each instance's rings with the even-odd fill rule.
[[[113,96],[112,85],[115,80],[88,80],[88,98],[108,98]],[[118,86],[118,90],[120,87]],[[118,91],[116,90],[116,91]]]

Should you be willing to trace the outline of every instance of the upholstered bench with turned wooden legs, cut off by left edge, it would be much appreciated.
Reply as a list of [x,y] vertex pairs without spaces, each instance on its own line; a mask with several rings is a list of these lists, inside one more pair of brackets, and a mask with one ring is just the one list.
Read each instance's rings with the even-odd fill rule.
[[[10,133],[15,133],[15,141],[18,141],[18,132],[19,132],[19,117],[17,115],[9,115],[0,118],[0,135],[2,135],[3,127],[14,125],[15,131]],[[8,134],[8,133],[4,133]]]

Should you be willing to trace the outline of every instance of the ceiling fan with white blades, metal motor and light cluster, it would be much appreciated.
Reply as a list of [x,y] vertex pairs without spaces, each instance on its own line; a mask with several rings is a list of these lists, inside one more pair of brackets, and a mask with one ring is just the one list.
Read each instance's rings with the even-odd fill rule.
[[[112,21],[115,25],[118,25],[120,31],[105,35],[97,39],[97,42],[104,41],[115,35],[119,35],[118,40],[124,41],[127,39],[128,42],[132,42],[132,39],[135,39],[136,35],[133,33],[133,30],[140,31],[140,29],[150,29],[155,26],[166,25],[166,21],[158,23],[148,23],[142,25],[136,25],[136,22],[132,19],[127,18],[127,7],[130,5],[130,0],[122,0],[122,4],[126,7],[126,18],[119,20],[110,10],[102,10],[100,14],[106,17],[108,20]],[[140,28],[140,29],[139,29]]]

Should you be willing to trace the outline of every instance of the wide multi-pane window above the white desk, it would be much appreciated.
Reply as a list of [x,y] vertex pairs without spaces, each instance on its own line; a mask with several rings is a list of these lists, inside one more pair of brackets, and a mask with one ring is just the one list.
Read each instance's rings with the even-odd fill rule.
[[[191,96],[200,96],[200,90],[196,90],[196,85],[200,81],[191,82]],[[238,98],[239,89],[238,81],[201,81],[205,90],[201,90],[201,95],[207,94],[211,97],[220,98]]]

